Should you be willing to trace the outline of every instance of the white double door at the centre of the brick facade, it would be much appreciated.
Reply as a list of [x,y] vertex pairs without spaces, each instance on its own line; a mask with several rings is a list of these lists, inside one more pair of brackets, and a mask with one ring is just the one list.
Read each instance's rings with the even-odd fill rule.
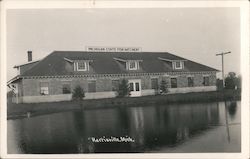
[[141,80],[140,79],[128,80],[128,83],[129,83],[130,97],[141,96]]

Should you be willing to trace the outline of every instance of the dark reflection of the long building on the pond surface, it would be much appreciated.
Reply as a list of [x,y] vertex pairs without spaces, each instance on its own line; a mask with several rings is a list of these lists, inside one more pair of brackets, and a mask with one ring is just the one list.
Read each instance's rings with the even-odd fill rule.
[[[228,118],[221,114],[221,106],[172,104],[58,113],[13,121],[8,138],[18,139],[15,144],[23,153],[146,152],[177,146],[219,125],[222,116],[223,121]],[[225,106],[229,116],[236,114],[235,102]],[[89,139],[103,136],[128,136],[135,142],[96,143]]]

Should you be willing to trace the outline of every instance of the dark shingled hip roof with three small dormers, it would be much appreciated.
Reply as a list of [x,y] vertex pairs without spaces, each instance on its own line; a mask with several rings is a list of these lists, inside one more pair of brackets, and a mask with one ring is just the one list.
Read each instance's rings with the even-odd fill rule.
[[[183,70],[173,70],[170,62],[159,60],[185,60]],[[69,60],[92,60],[90,66],[93,71],[74,72],[66,69]],[[114,58],[123,60],[142,60],[140,70],[128,71],[122,67],[121,62]],[[56,76],[74,74],[121,74],[130,72],[162,73],[162,72],[202,72],[218,71],[214,68],[175,56],[166,52],[84,52],[84,51],[54,51],[34,67],[24,72],[21,76]]]

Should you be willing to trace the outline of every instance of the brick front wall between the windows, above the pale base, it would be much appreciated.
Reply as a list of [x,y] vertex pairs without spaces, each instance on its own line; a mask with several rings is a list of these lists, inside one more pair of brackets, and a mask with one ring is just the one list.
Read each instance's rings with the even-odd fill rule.
[[[141,88],[143,90],[151,89],[151,79],[158,78],[158,83],[160,85],[162,80],[165,80],[170,88],[170,78],[177,78],[177,86],[180,87],[188,87],[187,77],[194,77],[194,87],[203,86],[203,77],[209,76],[209,86],[216,85],[216,74],[185,74],[185,75],[176,75],[176,76],[129,76],[125,77],[125,79],[141,79]],[[105,92],[111,91],[112,89],[112,79],[118,78],[71,78],[71,79],[63,79],[63,78],[48,78],[48,79],[24,79],[22,81],[23,87],[20,87],[19,92],[23,93],[23,96],[38,96],[40,95],[40,82],[48,82],[49,83],[49,95],[57,95],[62,94],[62,85],[63,82],[67,81],[71,85],[71,91],[77,86],[80,85],[85,92],[88,91],[88,81],[95,80],[96,81],[96,91],[97,92]]]

